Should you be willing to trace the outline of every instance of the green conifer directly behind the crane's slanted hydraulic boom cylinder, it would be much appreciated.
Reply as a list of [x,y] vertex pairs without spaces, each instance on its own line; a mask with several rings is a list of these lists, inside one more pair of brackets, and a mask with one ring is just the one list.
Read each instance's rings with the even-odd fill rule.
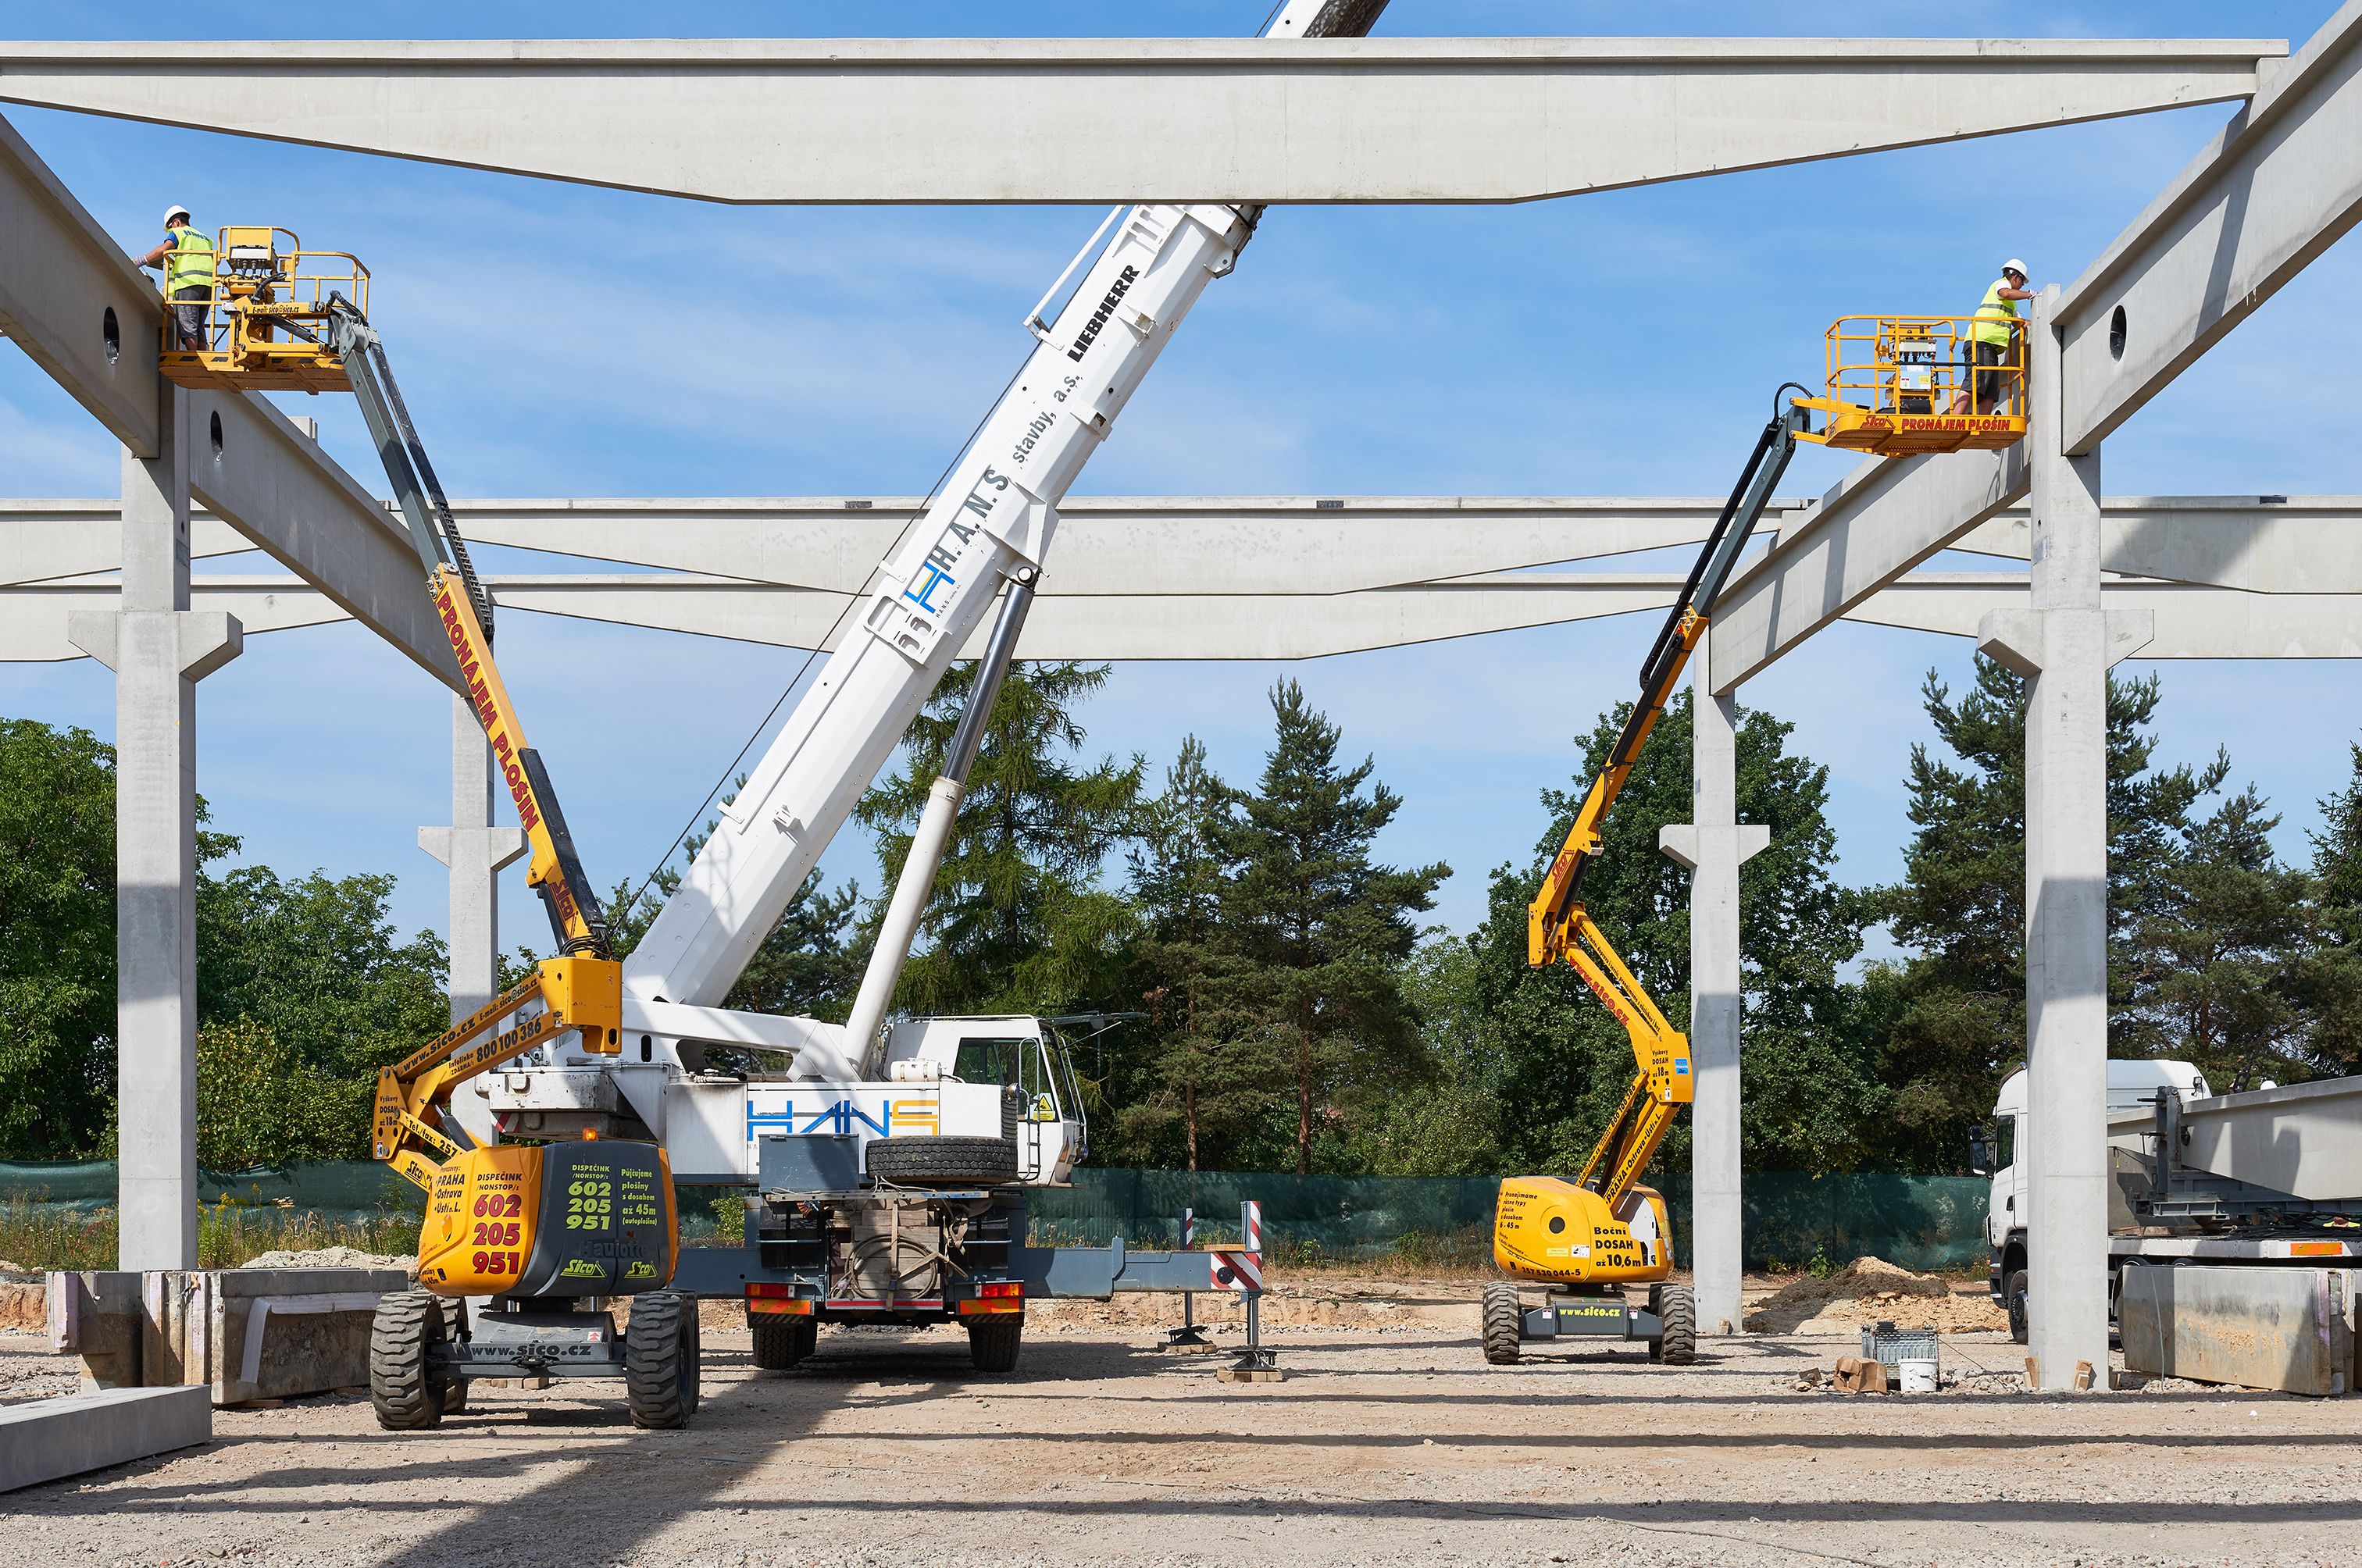
[[[855,805],[879,834],[886,886],[959,725],[976,666],[952,668],[902,739],[902,767]],[[1136,829],[1146,758],[1077,767],[1075,706],[1108,666],[1016,664],[983,749],[895,1001],[914,1013],[1063,1013],[1120,994],[1136,923],[1098,886],[1101,862]],[[883,907],[876,912],[883,916]]]

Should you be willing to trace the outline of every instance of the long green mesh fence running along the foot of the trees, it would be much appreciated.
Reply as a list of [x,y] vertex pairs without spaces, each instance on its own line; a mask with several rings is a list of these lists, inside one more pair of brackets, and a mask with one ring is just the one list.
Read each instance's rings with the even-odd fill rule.
[[[1072,1185],[1037,1188],[1027,1200],[1035,1247],[1138,1249],[1179,1240],[1181,1211],[1198,1214],[1198,1244],[1238,1240],[1238,1204],[1264,1204],[1264,1244],[1335,1259],[1370,1259],[1438,1240],[1483,1252],[1498,1176],[1292,1176],[1268,1171],[1075,1171]],[[1904,1268],[1960,1268],[1984,1249],[1986,1183],[1975,1176],[1807,1176],[1750,1171],[1743,1178],[1741,1237],[1748,1266],[1788,1268],[1871,1254]],[[720,1188],[680,1188],[680,1221],[692,1237],[713,1233]],[[1689,1261],[1689,1176],[1663,1183],[1675,1259]],[[423,1193],[368,1159],[319,1159],[253,1171],[201,1171],[198,1197],[231,1207],[279,1207],[364,1221],[416,1214]],[[94,1214],[116,1202],[111,1159],[71,1164],[0,1162],[0,1200],[59,1214]]]

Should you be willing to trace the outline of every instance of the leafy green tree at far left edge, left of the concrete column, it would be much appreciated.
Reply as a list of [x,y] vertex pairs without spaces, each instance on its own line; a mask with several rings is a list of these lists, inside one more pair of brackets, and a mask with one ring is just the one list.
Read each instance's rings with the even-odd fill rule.
[[0,720],[0,1157],[99,1145],[113,1041],[116,749]]

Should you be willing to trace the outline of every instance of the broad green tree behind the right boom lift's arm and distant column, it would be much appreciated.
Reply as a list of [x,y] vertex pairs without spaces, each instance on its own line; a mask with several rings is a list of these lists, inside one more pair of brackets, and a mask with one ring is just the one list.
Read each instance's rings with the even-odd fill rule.
[[[1476,994],[1500,1037],[1502,1143],[1516,1169],[1573,1174],[1632,1084],[1623,1025],[1571,966],[1526,963],[1526,907],[1566,843],[1575,810],[1630,718],[1599,716],[1573,789],[1545,789],[1549,829],[1523,871],[1493,874],[1486,923],[1469,937]],[[1790,725],[1741,708],[1736,803],[1772,843],[1738,871],[1743,1008],[1741,1136],[1750,1169],[1845,1171],[1866,1159],[1883,1115],[1875,1044],[1838,971],[1861,947],[1868,907],[1835,883],[1828,770],[1788,753]],[[1691,819],[1691,697],[1677,692],[1625,777],[1583,902],[1675,1027],[1689,1025],[1689,874],[1658,852],[1658,829]],[[1656,1169],[1689,1159],[1677,1119]]]

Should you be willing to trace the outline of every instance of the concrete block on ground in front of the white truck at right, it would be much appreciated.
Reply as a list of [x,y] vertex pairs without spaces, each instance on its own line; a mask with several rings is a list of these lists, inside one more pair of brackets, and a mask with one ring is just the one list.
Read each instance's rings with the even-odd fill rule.
[[2345,1393],[2355,1270],[2126,1268],[2116,1301],[2126,1372],[2201,1384]]

